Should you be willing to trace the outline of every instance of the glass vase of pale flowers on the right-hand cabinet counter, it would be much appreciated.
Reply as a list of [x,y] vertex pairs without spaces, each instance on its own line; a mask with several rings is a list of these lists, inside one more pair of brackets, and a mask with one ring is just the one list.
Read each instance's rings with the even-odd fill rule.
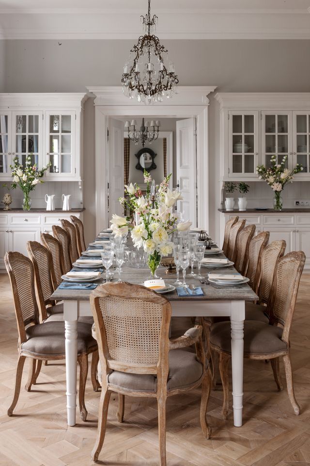
[[256,173],[260,180],[264,180],[271,186],[275,192],[274,209],[282,210],[283,201],[281,198],[281,192],[286,183],[292,182],[294,174],[299,173],[303,170],[303,166],[296,164],[293,169],[285,168],[287,161],[287,155],[284,155],[280,164],[277,163],[277,156],[272,155],[270,159],[270,167],[266,168],[264,165],[256,167]]

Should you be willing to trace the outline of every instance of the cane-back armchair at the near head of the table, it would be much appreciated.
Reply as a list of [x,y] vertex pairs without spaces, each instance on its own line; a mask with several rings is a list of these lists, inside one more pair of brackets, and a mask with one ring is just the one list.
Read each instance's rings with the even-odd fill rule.
[[[183,337],[169,339],[171,304],[140,285],[107,283],[90,296],[101,364],[101,397],[96,442],[97,461],[102,449],[112,392],[123,400],[118,419],[123,421],[124,395],[157,399],[160,466],[166,466],[166,399],[202,384],[200,421],[209,438],[206,408],[210,394],[210,369],[205,368],[202,327]],[[197,354],[182,351],[195,343]]]

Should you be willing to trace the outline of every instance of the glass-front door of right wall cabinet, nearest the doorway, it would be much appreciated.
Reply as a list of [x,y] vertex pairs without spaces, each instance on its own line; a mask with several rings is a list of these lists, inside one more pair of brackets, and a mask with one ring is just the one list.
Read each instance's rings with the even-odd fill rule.
[[228,113],[230,177],[256,177],[258,165],[258,111]]

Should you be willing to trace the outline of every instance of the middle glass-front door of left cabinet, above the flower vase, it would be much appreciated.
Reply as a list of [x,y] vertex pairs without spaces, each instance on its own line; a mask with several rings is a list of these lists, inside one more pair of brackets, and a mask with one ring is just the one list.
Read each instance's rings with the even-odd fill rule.
[[13,112],[12,160],[17,156],[25,166],[31,155],[31,164],[42,168],[42,122],[43,112]]

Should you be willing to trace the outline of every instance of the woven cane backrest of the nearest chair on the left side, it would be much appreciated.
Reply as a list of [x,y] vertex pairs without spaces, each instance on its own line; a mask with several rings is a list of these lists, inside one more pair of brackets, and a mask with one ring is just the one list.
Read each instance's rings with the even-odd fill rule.
[[6,252],[4,262],[12,286],[20,345],[27,340],[25,326],[39,323],[34,268],[31,260],[20,252]]

